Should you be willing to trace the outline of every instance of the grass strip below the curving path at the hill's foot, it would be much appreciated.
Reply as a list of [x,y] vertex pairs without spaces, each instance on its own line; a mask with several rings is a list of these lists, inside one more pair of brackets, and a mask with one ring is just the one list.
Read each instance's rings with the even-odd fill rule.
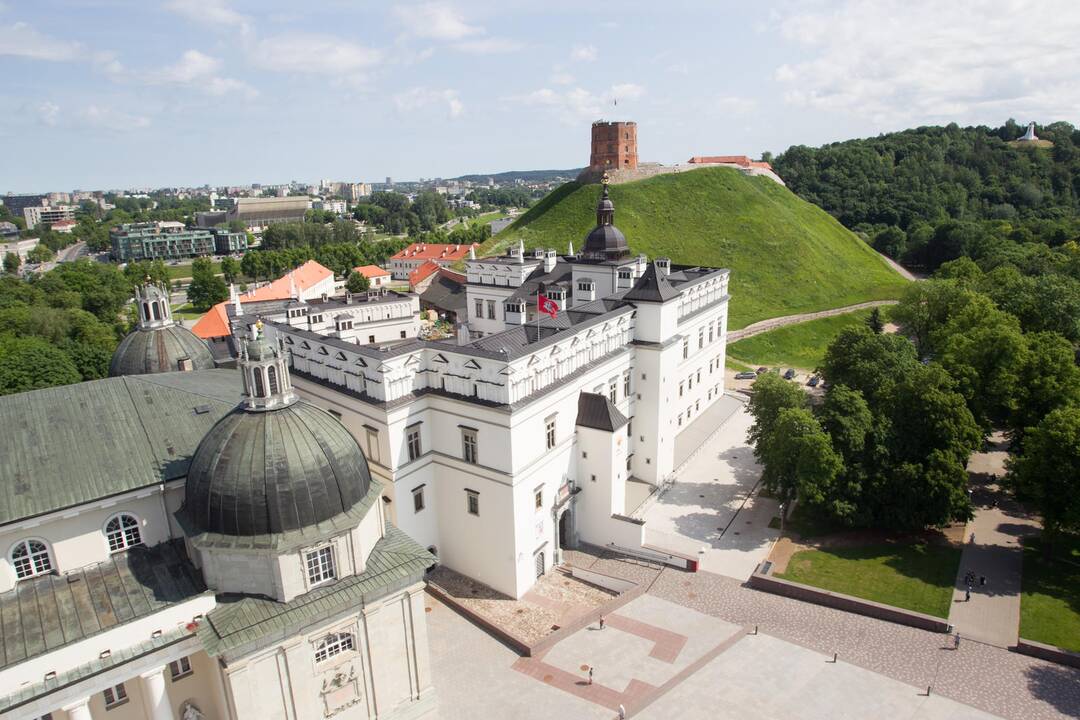
[[[889,307],[879,308],[881,321],[889,321]],[[728,345],[728,356],[758,366],[798,367],[812,370],[825,359],[825,350],[833,338],[846,327],[861,325],[869,310],[856,310],[843,315],[811,320],[780,327]]]

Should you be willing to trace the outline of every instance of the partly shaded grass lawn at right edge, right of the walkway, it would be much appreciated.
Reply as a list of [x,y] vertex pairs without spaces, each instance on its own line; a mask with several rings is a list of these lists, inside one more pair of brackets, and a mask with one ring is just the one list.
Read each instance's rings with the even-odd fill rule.
[[1047,557],[1038,540],[1024,543],[1020,635],[1080,652],[1080,536]]

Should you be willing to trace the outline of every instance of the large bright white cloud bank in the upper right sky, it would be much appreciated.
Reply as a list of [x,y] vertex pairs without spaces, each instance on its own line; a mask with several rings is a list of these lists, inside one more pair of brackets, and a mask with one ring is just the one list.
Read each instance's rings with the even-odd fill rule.
[[842,0],[780,19],[807,59],[777,68],[785,99],[879,125],[1061,119],[1080,110],[1075,0]]

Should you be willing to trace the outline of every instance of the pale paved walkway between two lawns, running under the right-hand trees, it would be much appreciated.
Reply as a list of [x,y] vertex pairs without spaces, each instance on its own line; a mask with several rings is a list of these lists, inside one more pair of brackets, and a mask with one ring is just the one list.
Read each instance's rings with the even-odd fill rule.
[[[1005,441],[995,433],[987,451],[968,463],[976,508],[968,524],[953,592],[948,620],[962,638],[999,648],[1016,644],[1020,626],[1021,575],[1024,535],[1039,532],[1038,522],[1001,492],[997,483],[1004,474]],[[974,535],[974,541],[970,540]],[[971,573],[971,599],[966,600]],[[986,579],[985,584],[982,579]]]

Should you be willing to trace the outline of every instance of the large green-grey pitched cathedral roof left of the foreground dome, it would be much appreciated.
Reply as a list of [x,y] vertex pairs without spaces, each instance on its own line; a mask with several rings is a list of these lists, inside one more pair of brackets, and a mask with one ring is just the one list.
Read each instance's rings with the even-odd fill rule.
[[199,441],[240,399],[235,370],[0,397],[0,525],[184,477]]

